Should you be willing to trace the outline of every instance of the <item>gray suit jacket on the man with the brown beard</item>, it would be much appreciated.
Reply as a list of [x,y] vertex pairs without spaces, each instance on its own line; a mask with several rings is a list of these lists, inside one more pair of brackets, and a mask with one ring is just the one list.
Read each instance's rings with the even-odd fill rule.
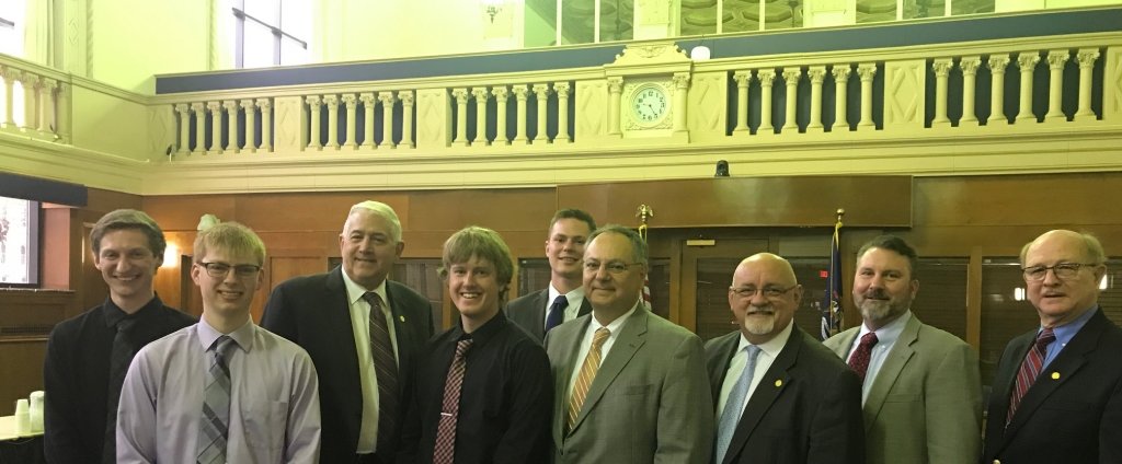
[[[827,340],[843,360],[861,327]],[[913,314],[865,400],[868,464],[957,464],[982,452],[978,356],[960,338]],[[868,381],[868,379],[866,379]]]

